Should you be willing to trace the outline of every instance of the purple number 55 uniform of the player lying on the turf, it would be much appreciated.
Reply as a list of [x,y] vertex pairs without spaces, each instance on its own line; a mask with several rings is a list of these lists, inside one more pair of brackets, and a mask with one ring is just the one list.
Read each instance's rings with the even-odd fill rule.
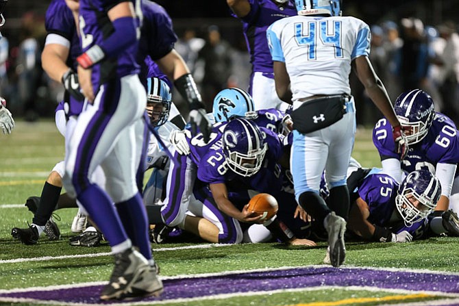
[[[395,207],[395,196],[399,184],[389,175],[376,173],[365,177],[358,186],[358,196],[368,204],[368,221],[379,227],[387,227],[393,233],[408,231],[413,239],[420,239],[427,233],[427,218],[406,227],[403,218]],[[352,195],[351,195],[352,197]]]

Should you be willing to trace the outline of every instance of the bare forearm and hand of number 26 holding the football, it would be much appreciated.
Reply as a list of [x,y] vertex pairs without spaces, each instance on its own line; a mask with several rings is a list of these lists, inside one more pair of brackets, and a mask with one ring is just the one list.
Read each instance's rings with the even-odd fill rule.
[[209,184],[209,187],[210,191],[212,192],[212,196],[214,197],[216,206],[219,207],[219,209],[228,216],[241,222],[257,222],[260,220],[260,218],[262,218],[261,215],[253,217],[253,214],[256,213],[247,211],[249,204],[245,205],[242,212],[237,209],[228,199],[228,190],[225,183],[211,183]]

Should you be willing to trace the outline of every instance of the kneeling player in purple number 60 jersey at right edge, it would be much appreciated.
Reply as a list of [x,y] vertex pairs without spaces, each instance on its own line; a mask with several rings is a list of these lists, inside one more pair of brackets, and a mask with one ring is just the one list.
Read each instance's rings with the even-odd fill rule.
[[448,210],[451,194],[459,192],[458,131],[450,118],[434,111],[434,101],[423,90],[403,92],[397,97],[394,109],[406,131],[410,150],[404,160],[400,160],[395,153],[393,139],[387,137],[390,123],[382,118],[373,129],[373,143],[380,153],[382,168],[398,182],[403,179],[404,173],[421,168],[430,170],[438,177],[442,192],[436,203],[431,227],[435,233],[441,233],[441,214]]

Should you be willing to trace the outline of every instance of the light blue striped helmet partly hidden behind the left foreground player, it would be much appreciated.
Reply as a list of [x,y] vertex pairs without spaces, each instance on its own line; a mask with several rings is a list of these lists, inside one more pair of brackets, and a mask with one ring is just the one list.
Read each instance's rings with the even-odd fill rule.
[[147,114],[153,127],[164,125],[171,110],[171,88],[158,77],[147,78]]

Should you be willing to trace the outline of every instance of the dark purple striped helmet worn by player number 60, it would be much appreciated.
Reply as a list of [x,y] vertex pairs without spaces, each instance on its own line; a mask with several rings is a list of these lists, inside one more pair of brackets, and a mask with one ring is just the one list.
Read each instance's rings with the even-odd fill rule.
[[435,118],[432,97],[420,89],[410,90],[399,95],[394,109],[406,131],[408,144],[423,140]]

